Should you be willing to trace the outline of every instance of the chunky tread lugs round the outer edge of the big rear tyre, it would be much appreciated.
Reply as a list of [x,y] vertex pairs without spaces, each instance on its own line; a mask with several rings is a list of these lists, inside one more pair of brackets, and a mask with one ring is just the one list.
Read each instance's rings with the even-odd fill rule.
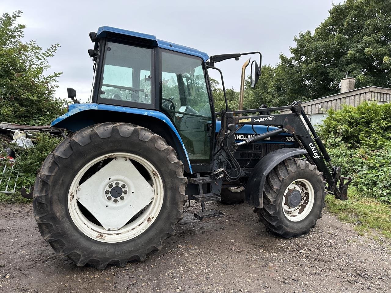
[[[66,241],[62,237],[61,231],[59,231],[59,229],[57,229],[57,227],[55,227],[55,225],[50,222],[50,217],[56,213],[54,213],[50,205],[51,196],[49,194],[49,190],[52,184],[57,184],[57,182],[54,182],[53,178],[54,175],[59,172],[58,164],[62,163],[61,161],[72,155],[74,149],[72,148],[73,144],[78,144],[84,147],[91,143],[91,136],[97,135],[99,138],[107,139],[110,138],[113,131],[117,131],[120,136],[124,138],[130,137],[134,132],[138,132],[138,138],[140,140],[149,143],[150,146],[155,147],[166,155],[167,159],[171,163],[170,166],[167,167],[174,171],[177,177],[176,182],[179,185],[178,189],[180,200],[178,201],[175,218],[169,225],[167,225],[168,230],[161,231],[161,234],[158,238],[156,238],[156,241],[154,243],[149,243],[149,245],[143,248],[141,251],[129,255],[129,257],[112,259],[111,261],[106,261],[106,258],[100,259],[96,256],[83,258],[83,253],[77,247],[70,247],[69,245],[66,245]],[[174,227],[176,223],[178,223],[183,218],[183,205],[187,201],[187,196],[185,195],[186,185],[187,178],[183,177],[182,162],[178,160],[174,148],[167,145],[166,141],[161,138],[161,136],[152,133],[149,129],[129,123],[101,123],[94,125],[93,127],[86,127],[78,132],[75,132],[71,137],[64,139],[64,141],[60,143],[54,149],[54,151],[47,156],[43,162],[34,185],[34,217],[38,223],[39,231],[41,232],[41,235],[45,241],[47,241],[52,246],[57,254],[67,256],[77,266],[90,264],[91,266],[100,270],[106,268],[108,264],[115,264],[117,266],[123,267],[126,266],[128,261],[145,260],[147,253],[160,250],[163,246],[163,241],[166,238],[174,235]]]

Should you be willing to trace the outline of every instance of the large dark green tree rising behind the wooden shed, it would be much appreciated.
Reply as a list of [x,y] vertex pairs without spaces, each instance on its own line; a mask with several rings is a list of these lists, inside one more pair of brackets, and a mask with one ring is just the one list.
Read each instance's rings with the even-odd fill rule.
[[292,102],[332,95],[344,77],[354,77],[359,88],[391,86],[390,0],[333,5],[314,34],[301,32],[294,40],[292,56],[280,55],[276,97]]

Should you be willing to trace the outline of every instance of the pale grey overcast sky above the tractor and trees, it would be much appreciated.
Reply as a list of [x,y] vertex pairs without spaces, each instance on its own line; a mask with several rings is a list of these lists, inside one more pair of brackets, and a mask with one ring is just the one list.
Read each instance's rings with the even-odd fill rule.
[[[27,25],[27,40],[43,48],[61,45],[50,60],[53,71],[63,71],[56,96],[66,97],[66,87],[72,87],[82,101],[90,97],[93,76],[88,33],[100,26],[152,34],[208,55],[260,51],[263,64],[276,64],[280,53],[289,54],[294,36],[313,31],[331,7],[330,0],[0,0],[1,13],[23,11],[20,23]],[[239,89],[244,61],[242,57],[216,64],[226,88]],[[220,80],[214,72],[210,75]]]

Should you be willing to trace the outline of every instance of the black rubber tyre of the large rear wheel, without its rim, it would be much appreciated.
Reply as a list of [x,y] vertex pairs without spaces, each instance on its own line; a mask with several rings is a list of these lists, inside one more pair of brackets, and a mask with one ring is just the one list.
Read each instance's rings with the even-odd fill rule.
[[[86,162],[113,151],[147,156],[164,174],[164,193],[160,212],[149,228],[126,241],[106,243],[76,227],[68,210],[68,193]],[[174,226],[183,217],[186,184],[183,164],[163,138],[129,123],[97,124],[64,139],[45,159],[34,186],[34,216],[41,235],[57,254],[69,257],[78,266],[125,266],[128,261],[142,261],[149,252],[160,250],[162,242],[174,235]]]

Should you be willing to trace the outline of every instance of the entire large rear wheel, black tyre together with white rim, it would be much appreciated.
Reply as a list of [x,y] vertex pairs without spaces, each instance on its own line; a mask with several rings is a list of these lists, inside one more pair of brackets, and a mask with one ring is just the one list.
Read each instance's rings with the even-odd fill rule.
[[174,234],[186,184],[183,164],[163,138],[129,123],[97,124],[45,159],[34,216],[43,238],[76,265],[125,266]]

